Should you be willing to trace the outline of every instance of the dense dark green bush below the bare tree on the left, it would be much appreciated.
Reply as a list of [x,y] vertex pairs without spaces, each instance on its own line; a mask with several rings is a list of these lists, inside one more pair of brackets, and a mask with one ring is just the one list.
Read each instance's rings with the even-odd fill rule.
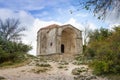
[[31,50],[31,46],[23,43],[5,41],[0,38],[0,63],[21,62],[25,59],[24,54]]

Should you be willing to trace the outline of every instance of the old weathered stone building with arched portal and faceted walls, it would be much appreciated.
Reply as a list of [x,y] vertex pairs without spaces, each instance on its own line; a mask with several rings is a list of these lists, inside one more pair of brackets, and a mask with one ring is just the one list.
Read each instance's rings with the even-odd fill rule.
[[82,32],[70,24],[49,25],[37,32],[37,55],[82,53]]

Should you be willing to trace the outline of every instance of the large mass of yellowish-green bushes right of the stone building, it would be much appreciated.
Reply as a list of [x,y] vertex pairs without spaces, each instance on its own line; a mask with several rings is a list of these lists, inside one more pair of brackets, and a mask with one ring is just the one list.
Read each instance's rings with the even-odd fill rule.
[[95,74],[120,74],[120,26],[93,31],[85,56],[93,60],[90,66]]

